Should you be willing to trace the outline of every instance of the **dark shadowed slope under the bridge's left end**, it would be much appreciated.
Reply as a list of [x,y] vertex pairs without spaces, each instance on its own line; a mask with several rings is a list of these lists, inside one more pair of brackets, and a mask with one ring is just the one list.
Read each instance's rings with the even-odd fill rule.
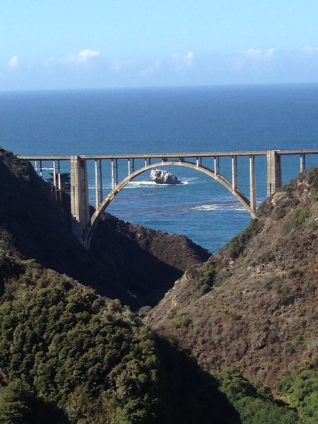
[[187,237],[153,232],[107,214],[86,251],[71,234],[69,212],[52,199],[33,167],[0,149],[1,234],[26,259],[135,308],[155,305],[187,266],[208,258]]

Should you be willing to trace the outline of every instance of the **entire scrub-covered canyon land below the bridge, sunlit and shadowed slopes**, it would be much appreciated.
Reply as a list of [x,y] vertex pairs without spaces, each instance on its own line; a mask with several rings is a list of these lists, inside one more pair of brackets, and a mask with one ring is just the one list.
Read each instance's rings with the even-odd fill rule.
[[86,251],[2,150],[0,200],[1,423],[316,424],[317,169],[210,259],[107,213]]

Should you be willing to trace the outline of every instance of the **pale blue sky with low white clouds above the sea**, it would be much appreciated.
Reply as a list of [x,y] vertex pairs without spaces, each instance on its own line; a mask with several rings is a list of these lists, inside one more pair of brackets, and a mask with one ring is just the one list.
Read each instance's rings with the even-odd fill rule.
[[0,90],[314,82],[317,0],[0,0]]

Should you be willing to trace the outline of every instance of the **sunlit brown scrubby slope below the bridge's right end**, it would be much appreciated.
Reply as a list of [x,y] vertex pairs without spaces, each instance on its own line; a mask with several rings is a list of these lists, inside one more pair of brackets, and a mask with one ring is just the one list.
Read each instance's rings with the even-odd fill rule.
[[246,230],[194,266],[146,322],[210,372],[237,367],[273,386],[317,367],[318,169],[269,198]]

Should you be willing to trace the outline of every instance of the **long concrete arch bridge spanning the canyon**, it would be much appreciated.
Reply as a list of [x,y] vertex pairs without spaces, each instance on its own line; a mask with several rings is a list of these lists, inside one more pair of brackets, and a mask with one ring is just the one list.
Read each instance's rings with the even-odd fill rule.
[[[231,152],[192,152],[192,153],[136,153],[120,155],[43,155],[25,156],[18,158],[34,162],[35,170],[42,177],[45,163],[52,163],[53,192],[57,201],[61,200],[61,162],[68,161],[71,174],[71,214],[73,216],[72,230],[79,242],[87,249],[95,231],[96,225],[102,213],[111,203],[114,197],[132,179],[143,172],[155,167],[178,165],[189,167],[203,172],[228,189],[228,191],[240,201],[249,214],[254,218],[257,211],[257,182],[255,174],[255,158],[266,157],[266,186],[267,196],[276,192],[282,186],[283,155],[298,155],[300,158],[300,172],[305,170],[306,155],[317,155],[318,150],[296,151],[231,151]],[[249,159],[249,196],[244,194],[238,184],[237,160],[242,157]],[[220,162],[224,158],[231,160],[231,178],[227,179],[220,172]],[[88,163],[94,163],[95,170],[95,212],[90,216],[90,204],[88,199]],[[104,194],[103,181],[105,167],[110,175],[111,189]],[[119,178],[119,168],[126,169],[124,175]]]

